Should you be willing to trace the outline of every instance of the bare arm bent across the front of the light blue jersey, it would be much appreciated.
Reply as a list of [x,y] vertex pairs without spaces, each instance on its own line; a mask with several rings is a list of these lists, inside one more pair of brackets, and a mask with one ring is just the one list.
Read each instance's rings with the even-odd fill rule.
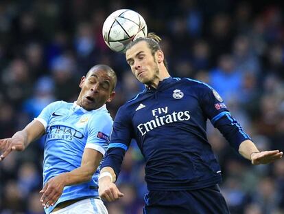
[[40,198],[43,206],[54,206],[58,198],[62,195],[64,186],[71,186],[91,180],[97,167],[99,167],[102,157],[103,155],[99,151],[89,148],[84,149],[80,167],[51,178],[43,186],[43,189],[40,191],[40,193],[43,193]]

